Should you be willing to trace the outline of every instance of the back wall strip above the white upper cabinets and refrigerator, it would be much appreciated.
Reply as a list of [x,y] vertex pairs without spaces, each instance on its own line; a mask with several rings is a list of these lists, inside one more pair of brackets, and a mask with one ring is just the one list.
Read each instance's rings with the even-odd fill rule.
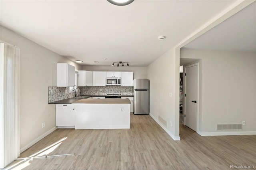
[[134,79],[146,79],[147,67],[117,67],[117,66],[83,66],[83,70],[87,71],[132,71]]

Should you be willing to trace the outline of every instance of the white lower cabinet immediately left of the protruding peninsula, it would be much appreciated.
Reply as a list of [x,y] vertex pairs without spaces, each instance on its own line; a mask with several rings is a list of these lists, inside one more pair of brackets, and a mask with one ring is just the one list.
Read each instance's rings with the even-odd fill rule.
[[58,128],[74,128],[75,107],[72,104],[58,104],[56,109],[56,126]]

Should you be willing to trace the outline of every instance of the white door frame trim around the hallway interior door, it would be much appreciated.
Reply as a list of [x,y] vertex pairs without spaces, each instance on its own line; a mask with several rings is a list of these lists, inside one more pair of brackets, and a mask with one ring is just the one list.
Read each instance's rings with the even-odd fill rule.
[[197,105],[197,119],[196,119],[196,121],[197,121],[197,123],[196,123],[196,133],[198,133],[198,127],[199,127],[199,63],[197,62],[197,63],[194,63],[194,64],[190,64],[190,65],[186,65],[186,66],[184,66],[184,75],[183,75],[183,85],[184,85],[184,87],[183,87],[183,89],[184,89],[184,100],[183,100],[183,114],[182,114],[182,118],[183,118],[183,122],[184,122],[184,125],[186,126],[186,117],[184,116],[184,115],[186,115],[186,97],[185,97],[185,94],[186,94],[186,76],[185,76],[185,74],[186,74],[186,68],[188,68],[188,67],[193,67],[193,66],[196,66],[197,65],[197,100],[198,100],[198,105]]

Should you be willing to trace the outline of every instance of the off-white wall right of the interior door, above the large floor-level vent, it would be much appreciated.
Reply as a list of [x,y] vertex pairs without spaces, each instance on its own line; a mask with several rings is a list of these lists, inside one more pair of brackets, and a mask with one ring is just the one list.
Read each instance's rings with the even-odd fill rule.
[[182,49],[180,57],[200,59],[202,134],[214,135],[216,124],[242,121],[244,134],[256,134],[256,52]]

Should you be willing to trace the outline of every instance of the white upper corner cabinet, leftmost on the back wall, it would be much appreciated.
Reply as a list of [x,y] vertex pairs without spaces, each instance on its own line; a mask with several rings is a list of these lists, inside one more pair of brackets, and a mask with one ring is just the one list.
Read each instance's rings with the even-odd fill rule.
[[92,71],[78,71],[78,86],[92,86]]

